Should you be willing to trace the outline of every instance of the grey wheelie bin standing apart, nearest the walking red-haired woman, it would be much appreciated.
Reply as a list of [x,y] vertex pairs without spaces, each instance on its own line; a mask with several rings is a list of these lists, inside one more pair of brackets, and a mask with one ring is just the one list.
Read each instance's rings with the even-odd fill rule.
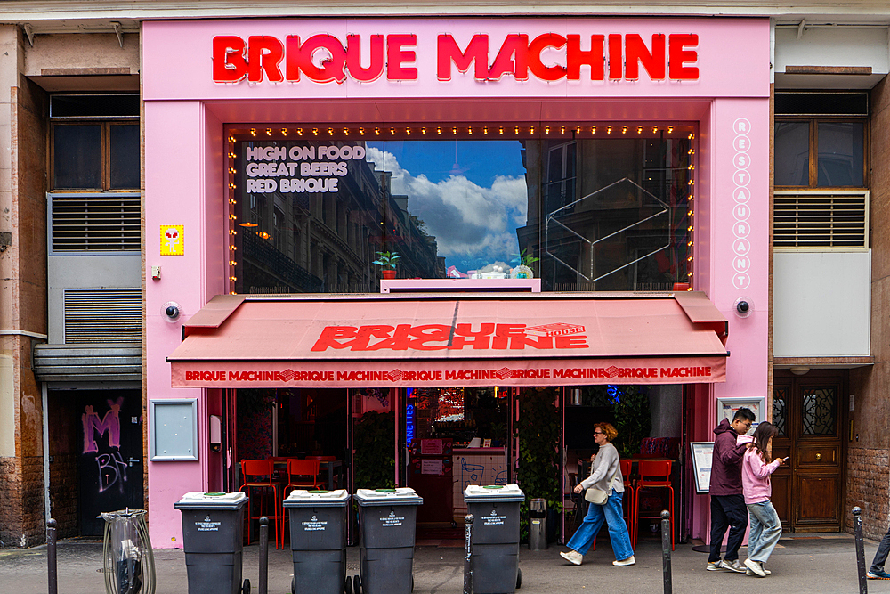
[[473,514],[474,594],[513,594],[522,585],[519,568],[519,507],[525,493],[516,484],[476,486],[464,492]]

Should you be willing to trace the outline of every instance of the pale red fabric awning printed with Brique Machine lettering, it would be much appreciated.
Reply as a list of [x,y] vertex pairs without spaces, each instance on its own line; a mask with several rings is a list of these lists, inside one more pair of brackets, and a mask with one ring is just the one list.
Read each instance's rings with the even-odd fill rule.
[[174,387],[725,381],[703,293],[218,296],[167,357]]

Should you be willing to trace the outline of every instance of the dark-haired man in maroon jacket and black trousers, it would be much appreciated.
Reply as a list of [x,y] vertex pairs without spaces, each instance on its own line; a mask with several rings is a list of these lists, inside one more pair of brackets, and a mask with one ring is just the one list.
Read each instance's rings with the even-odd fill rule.
[[[748,508],[741,494],[741,460],[745,455],[745,443],[736,443],[739,435],[745,435],[754,423],[754,413],[741,408],[732,417],[720,421],[714,429],[714,456],[711,459],[711,554],[708,571],[728,569],[739,574],[746,567],[739,563],[739,547],[748,527]],[[726,555],[720,559],[720,547],[727,525],[732,526],[726,541]]]

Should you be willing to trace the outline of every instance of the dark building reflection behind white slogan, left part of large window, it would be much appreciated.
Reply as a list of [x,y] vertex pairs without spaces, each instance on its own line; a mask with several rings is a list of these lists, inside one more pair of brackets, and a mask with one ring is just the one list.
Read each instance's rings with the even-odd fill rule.
[[[281,191],[280,184],[265,193],[242,190],[248,179],[248,147],[283,146],[289,151],[320,145],[360,143],[239,142],[236,220],[255,226],[236,227],[236,292],[375,292],[381,271],[371,263],[378,251],[399,253],[402,278],[444,278],[444,258],[437,255],[435,238],[425,232],[423,221],[409,215],[409,197],[393,196],[392,174],[377,171],[364,159],[341,161],[346,175],[336,175],[336,191]],[[298,165],[293,177],[311,176],[301,177]]]

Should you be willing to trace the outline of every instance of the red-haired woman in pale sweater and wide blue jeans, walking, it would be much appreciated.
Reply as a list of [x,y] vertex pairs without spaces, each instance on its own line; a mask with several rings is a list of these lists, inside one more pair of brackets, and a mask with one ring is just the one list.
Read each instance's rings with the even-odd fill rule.
[[594,426],[594,440],[600,446],[596,454],[590,476],[575,487],[576,493],[584,492],[589,487],[608,492],[604,505],[590,503],[587,516],[566,543],[570,551],[560,553],[562,558],[576,566],[581,565],[581,557],[587,553],[596,538],[596,533],[603,527],[603,520],[609,525],[609,538],[615,552],[613,566],[632,566],[636,563],[634,549],[630,545],[630,534],[624,522],[624,510],[621,499],[624,497],[624,479],[621,477],[621,464],[618,450],[611,441],[618,436],[618,431],[609,423],[597,423]]

